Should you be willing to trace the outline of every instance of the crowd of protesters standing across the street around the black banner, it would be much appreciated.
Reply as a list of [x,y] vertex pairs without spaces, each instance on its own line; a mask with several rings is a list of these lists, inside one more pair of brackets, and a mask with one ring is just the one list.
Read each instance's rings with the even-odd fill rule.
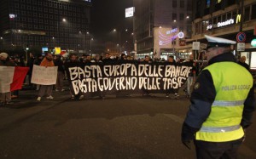
[[[242,57],[239,63],[241,65],[245,65],[244,58]],[[53,55],[53,54],[45,54],[43,57],[42,54],[29,54],[27,57],[27,62],[25,65],[24,58],[20,58],[18,55],[9,57],[9,54],[1,53],[0,54],[0,65],[5,66],[26,66],[29,67],[29,71],[27,73],[27,80],[28,81],[29,88],[38,90],[38,98],[37,100],[40,101],[44,95],[46,94],[46,99],[54,99],[52,96],[52,91],[55,90],[58,91],[65,91],[63,87],[63,80],[67,79],[70,82],[69,79],[69,71],[68,67],[77,66],[81,63],[84,64],[91,64],[91,63],[115,63],[115,62],[124,62],[131,60],[134,64],[150,64],[150,63],[166,63],[166,65],[186,65],[191,66],[192,70],[189,72],[189,78],[186,82],[186,86],[183,89],[184,94],[189,97],[193,83],[195,82],[195,77],[200,73],[200,71],[206,66],[203,62],[196,62],[194,60],[193,54],[189,55],[188,60],[184,60],[181,62],[180,59],[174,60],[173,56],[169,56],[167,60],[165,59],[151,59],[150,56],[145,55],[144,58],[141,59],[134,59],[130,55],[121,54],[119,57],[111,56],[110,54],[105,54],[104,57],[96,54],[95,56],[91,57],[88,54],[83,54],[81,57],[79,57],[76,54],[69,54],[68,57],[64,58],[61,55]],[[57,66],[58,67],[58,73],[57,73],[57,80],[55,85],[37,85],[31,83],[32,79],[32,69],[33,65],[41,65],[41,66]],[[247,65],[245,65],[247,66]],[[73,88],[69,88],[69,94],[71,99],[83,99],[83,94],[74,94]],[[177,99],[179,97],[178,90],[175,89],[173,92],[175,98]],[[146,91],[146,94],[143,95],[151,95],[148,94]],[[18,98],[19,91],[16,90],[14,92],[4,93],[1,94],[1,105],[9,104],[11,99]],[[102,98],[104,98],[104,94],[100,94]],[[169,97],[169,94],[166,94],[166,97]]]

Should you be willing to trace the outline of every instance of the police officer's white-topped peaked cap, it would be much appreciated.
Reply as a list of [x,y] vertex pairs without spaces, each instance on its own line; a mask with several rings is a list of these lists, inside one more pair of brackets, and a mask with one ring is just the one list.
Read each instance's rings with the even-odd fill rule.
[[207,38],[207,41],[208,41],[207,49],[218,48],[218,47],[230,47],[230,45],[236,44],[235,41],[221,38],[221,37],[211,37],[207,35],[205,35],[205,37]]

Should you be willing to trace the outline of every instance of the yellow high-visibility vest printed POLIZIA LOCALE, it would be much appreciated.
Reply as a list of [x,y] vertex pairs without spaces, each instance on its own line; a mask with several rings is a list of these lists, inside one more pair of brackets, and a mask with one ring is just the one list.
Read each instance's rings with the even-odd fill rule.
[[253,87],[253,77],[235,62],[218,62],[205,68],[212,75],[216,97],[212,110],[195,139],[225,142],[241,139],[240,126],[244,101]]

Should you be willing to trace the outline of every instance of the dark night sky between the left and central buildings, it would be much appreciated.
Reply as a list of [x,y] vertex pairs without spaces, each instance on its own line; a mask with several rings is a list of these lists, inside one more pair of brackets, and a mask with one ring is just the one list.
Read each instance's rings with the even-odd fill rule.
[[132,30],[132,19],[125,19],[125,9],[132,7],[132,0],[92,0],[90,31],[99,41],[111,38],[113,28]]

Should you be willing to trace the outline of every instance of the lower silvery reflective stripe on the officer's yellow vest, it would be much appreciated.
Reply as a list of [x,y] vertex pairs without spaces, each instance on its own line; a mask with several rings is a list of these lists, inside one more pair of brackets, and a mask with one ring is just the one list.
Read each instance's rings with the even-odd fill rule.
[[201,132],[207,132],[207,133],[225,133],[225,132],[231,132],[234,130],[238,130],[241,128],[240,125],[230,126],[230,127],[218,127],[218,128],[212,128],[212,127],[201,127],[199,131]]

